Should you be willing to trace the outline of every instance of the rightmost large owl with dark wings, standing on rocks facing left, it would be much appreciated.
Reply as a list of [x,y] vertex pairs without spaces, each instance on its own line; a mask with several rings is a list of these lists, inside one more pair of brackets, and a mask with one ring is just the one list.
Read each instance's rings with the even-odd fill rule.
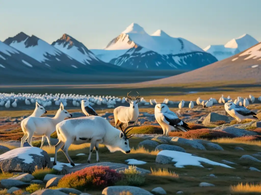
[[238,123],[240,123],[244,119],[258,119],[256,116],[254,116],[257,115],[256,113],[251,112],[244,106],[237,106],[233,102],[225,103],[224,107],[227,113],[233,118],[235,118],[238,121]]

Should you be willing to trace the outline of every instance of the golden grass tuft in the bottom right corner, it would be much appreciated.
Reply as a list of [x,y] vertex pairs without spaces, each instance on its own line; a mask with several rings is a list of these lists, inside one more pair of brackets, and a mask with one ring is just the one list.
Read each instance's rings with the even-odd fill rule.
[[231,186],[230,190],[232,192],[243,192],[243,193],[261,192],[261,183],[259,184],[240,183],[238,185]]

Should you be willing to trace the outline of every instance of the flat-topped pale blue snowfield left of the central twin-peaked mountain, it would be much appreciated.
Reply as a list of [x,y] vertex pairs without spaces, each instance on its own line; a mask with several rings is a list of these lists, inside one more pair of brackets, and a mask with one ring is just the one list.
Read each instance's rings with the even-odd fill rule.
[[104,62],[110,62],[111,59],[117,58],[124,53],[126,53],[128,50],[105,50],[105,49],[91,49],[92,53],[94,53],[100,60]]

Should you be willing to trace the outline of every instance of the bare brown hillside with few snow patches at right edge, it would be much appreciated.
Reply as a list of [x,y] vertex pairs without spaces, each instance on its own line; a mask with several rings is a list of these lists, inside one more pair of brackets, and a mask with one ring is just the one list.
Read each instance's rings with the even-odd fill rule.
[[136,83],[135,85],[248,81],[261,82],[261,43],[227,59],[164,79]]

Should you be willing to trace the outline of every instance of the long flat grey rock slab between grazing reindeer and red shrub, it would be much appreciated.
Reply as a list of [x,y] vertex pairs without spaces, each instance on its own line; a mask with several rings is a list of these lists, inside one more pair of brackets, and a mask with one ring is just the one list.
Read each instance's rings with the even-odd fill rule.
[[[120,172],[120,171],[124,171],[125,169],[129,168],[129,165],[125,165],[125,164],[121,164],[121,163],[114,163],[114,162],[98,162],[98,163],[93,163],[93,164],[81,164],[81,165],[77,165],[74,167],[64,167],[62,170],[63,174],[68,174],[68,173],[72,173],[75,171],[79,171],[82,170],[86,167],[92,167],[92,166],[108,166],[110,169],[115,170],[116,172]],[[143,168],[138,168],[137,170],[140,171],[142,174],[147,174],[150,173],[149,170],[143,169]]]

